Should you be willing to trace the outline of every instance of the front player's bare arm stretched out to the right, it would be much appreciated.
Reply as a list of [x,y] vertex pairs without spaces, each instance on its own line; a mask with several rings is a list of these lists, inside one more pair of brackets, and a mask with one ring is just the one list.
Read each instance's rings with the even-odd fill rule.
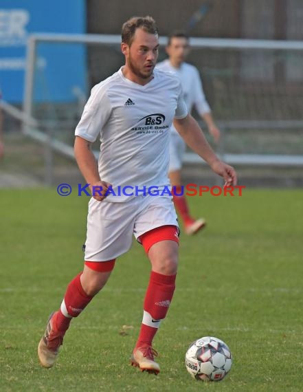
[[214,173],[221,175],[225,179],[225,185],[236,185],[236,171],[232,166],[219,160],[210,144],[208,144],[199,124],[190,114],[185,118],[175,118],[174,126],[181,138],[190,146],[192,151],[197,153],[210,165]]

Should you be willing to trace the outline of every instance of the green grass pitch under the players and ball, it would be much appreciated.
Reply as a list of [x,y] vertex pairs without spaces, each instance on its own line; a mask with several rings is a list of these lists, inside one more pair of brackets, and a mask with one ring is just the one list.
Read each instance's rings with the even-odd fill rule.
[[[128,364],[150,269],[137,243],[73,321],[56,366],[40,367],[47,316],[82,269],[88,198],[36,189],[0,199],[0,391],[302,391],[301,190],[189,199],[208,226],[181,236],[177,290],[155,338],[157,377]],[[207,335],[234,356],[222,382],[196,382],[184,366],[190,342]]]

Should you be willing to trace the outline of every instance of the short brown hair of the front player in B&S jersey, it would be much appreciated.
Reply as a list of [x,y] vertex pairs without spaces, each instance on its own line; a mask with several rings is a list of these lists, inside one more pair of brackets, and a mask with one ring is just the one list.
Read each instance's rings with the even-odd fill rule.
[[122,25],[122,42],[131,46],[133,37],[138,28],[141,28],[149,34],[159,34],[156,22],[152,17],[133,17]]

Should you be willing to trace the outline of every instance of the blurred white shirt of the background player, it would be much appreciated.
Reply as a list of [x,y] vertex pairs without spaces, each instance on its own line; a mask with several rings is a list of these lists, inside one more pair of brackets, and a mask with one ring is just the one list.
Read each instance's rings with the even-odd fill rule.
[[[194,65],[182,63],[179,68],[172,67],[169,59],[161,61],[156,65],[157,69],[165,72],[174,72],[181,80],[183,99],[188,107],[188,112],[191,113],[192,107],[197,109],[200,116],[205,113],[210,113],[210,106],[204,95],[201,78],[198,69]],[[175,127],[172,126],[174,131]],[[176,131],[177,132],[177,131]]]

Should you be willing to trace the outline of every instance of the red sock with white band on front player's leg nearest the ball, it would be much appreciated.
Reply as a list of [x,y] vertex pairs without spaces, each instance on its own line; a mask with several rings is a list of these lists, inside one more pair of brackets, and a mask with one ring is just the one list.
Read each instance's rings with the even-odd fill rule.
[[144,316],[136,347],[151,345],[175,291],[176,275],[151,272],[144,299]]

